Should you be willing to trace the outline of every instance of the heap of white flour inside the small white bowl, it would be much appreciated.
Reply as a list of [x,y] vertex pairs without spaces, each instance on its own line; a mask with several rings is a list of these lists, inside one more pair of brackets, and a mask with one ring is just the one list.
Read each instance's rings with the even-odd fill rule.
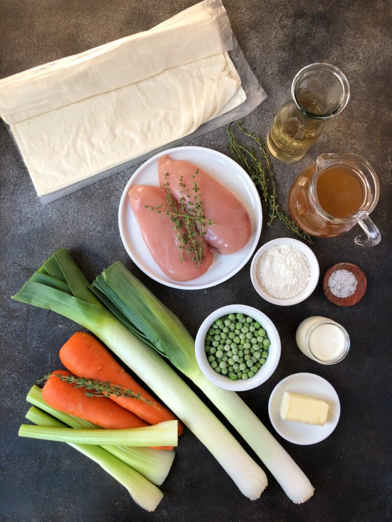
[[289,299],[306,287],[310,278],[309,262],[296,246],[276,245],[261,255],[256,277],[269,295]]

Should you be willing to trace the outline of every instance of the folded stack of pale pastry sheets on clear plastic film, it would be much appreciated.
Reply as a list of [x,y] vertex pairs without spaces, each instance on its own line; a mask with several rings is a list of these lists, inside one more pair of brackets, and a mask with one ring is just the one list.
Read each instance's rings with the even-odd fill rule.
[[264,98],[221,0],[0,80],[0,115],[42,203],[242,117]]

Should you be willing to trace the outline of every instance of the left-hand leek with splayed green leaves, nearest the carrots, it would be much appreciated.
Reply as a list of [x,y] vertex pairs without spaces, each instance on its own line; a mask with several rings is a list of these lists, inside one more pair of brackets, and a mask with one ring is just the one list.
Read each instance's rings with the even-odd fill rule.
[[[55,284],[29,280],[13,299],[62,314],[92,331],[188,426],[240,491],[251,500],[258,499],[267,485],[263,470],[177,373],[144,342],[143,336],[148,337],[147,334],[137,324],[135,331],[131,331],[124,314],[116,318],[88,290],[70,254],[64,249],[55,252],[39,272],[66,282],[70,293],[56,288]],[[137,335],[137,331],[141,335]]]

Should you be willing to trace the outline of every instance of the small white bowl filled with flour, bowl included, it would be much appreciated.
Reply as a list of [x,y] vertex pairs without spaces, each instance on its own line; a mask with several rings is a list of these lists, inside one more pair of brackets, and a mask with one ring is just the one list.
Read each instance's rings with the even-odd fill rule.
[[256,252],[250,267],[253,287],[272,304],[301,303],[316,288],[320,269],[310,248],[291,238],[269,241]]

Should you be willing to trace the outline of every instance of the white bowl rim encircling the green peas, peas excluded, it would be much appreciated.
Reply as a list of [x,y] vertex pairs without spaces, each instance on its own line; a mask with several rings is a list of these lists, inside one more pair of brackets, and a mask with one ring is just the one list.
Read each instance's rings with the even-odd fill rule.
[[[211,368],[210,363],[207,361],[205,355],[204,339],[207,334],[207,331],[216,319],[230,313],[244,313],[246,315],[249,315],[250,317],[253,317],[253,319],[256,319],[256,321],[258,321],[266,330],[268,338],[271,341],[269,349],[271,349],[271,347],[273,349],[273,362],[270,364],[270,366],[267,366],[267,371],[263,371],[264,367],[266,367],[265,365],[263,365],[256,373],[256,375],[254,375],[250,379],[231,381],[228,377],[216,373]],[[204,321],[199,327],[198,334],[196,336],[195,354],[200,370],[202,371],[204,376],[207,377],[207,379],[209,379],[209,381],[216,384],[220,388],[232,390],[233,392],[244,392],[245,390],[256,388],[257,386],[260,386],[261,384],[265,383],[274,373],[280,360],[281,341],[278,330],[276,329],[275,325],[266,314],[261,312],[261,310],[258,310],[253,306],[248,306],[245,304],[229,304],[226,306],[222,306],[221,308],[218,308],[204,319]],[[272,354],[269,354],[266,364],[271,355]]]

